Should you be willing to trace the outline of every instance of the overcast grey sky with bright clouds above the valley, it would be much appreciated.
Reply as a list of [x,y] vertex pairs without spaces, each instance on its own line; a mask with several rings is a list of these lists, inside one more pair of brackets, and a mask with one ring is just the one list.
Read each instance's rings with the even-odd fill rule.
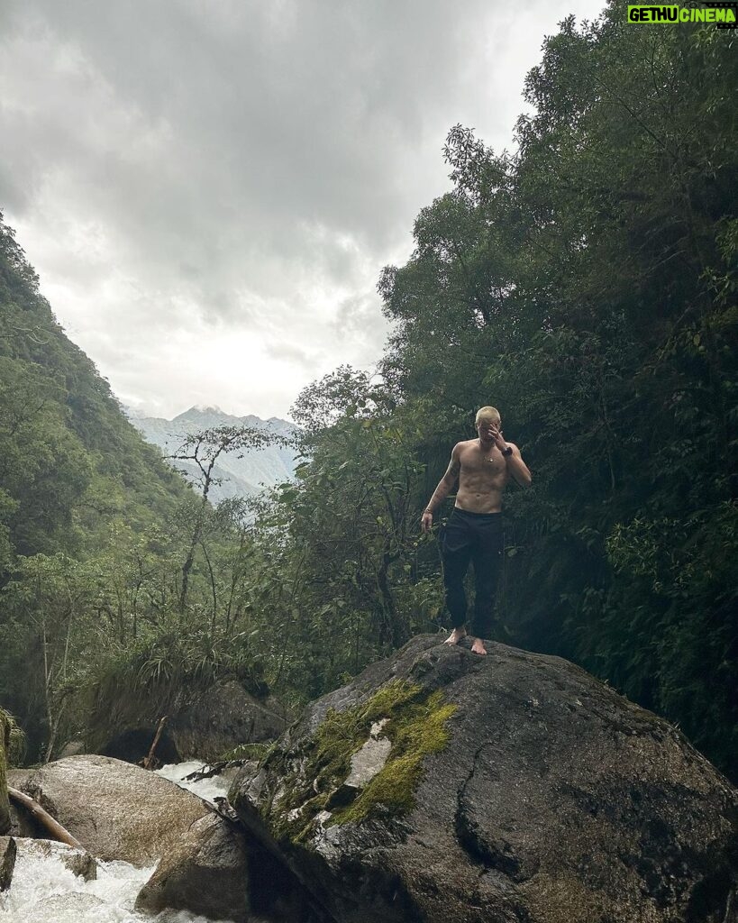
[[122,402],[286,416],[382,353],[448,129],[509,150],[544,36],[602,6],[0,0],[0,209]]

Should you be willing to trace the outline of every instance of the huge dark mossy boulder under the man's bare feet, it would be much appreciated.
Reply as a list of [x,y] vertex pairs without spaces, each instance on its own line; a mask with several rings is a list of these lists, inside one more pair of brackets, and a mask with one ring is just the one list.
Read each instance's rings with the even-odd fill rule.
[[315,701],[231,800],[337,923],[728,923],[738,797],[556,657],[415,638]]

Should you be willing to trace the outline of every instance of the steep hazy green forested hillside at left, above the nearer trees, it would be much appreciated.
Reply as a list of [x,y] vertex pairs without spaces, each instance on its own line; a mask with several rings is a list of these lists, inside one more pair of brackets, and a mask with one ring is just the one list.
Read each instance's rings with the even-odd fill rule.
[[0,485],[10,549],[74,553],[115,514],[140,526],[171,509],[185,494],[181,479],[66,338],[2,223],[0,312]]

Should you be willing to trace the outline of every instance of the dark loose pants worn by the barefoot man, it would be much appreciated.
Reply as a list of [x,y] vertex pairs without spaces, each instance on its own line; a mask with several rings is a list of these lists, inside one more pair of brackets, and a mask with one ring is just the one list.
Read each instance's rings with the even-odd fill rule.
[[502,571],[502,513],[470,513],[455,508],[441,539],[446,605],[454,628],[467,618],[464,577],[474,565],[474,617],[471,634],[489,638],[497,582]]

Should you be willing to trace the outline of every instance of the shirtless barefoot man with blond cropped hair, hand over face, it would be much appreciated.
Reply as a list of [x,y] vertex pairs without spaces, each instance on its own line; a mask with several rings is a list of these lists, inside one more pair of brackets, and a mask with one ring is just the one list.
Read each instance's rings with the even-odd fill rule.
[[480,654],[487,653],[482,638],[490,635],[494,593],[502,568],[502,493],[510,476],[521,487],[529,486],[531,481],[518,446],[502,437],[501,424],[494,407],[482,407],[476,418],[479,438],[454,446],[448,469],[421,520],[423,532],[430,532],[434,509],[441,505],[458,478],[456,505],[441,543],[446,605],[454,626],[446,644],[458,644],[467,633],[464,577],[471,561],[475,583],[471,650]]

